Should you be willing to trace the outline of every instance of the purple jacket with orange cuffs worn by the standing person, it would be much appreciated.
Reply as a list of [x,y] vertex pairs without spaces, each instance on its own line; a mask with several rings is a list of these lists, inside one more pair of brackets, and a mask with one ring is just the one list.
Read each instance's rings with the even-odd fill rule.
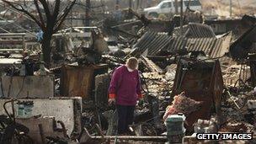
[[115,98],[116,104],[136,105],[141,97],[139,71],[129,72],[125,65],[116,68],[109,86],[109,98]]

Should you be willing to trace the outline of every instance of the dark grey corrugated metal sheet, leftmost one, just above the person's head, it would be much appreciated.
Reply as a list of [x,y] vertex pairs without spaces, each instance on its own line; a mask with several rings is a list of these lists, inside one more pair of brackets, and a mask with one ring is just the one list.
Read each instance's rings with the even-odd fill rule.
[[137,52],[140,53],[147,51],[147,55],[152,56],[157,51],[166,48],[171,40],[171,36],[166,33],[148,31],[141,36],[141,39],[137,41],[136,45],[133,45],[133,48],[138,48]]

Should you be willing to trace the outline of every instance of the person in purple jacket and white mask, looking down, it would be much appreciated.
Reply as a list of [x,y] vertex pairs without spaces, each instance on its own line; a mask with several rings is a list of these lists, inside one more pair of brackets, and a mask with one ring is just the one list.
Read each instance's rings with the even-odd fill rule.
[[136,101],[142,98],[141,82],[137,70],[138,60],[131,57],[126,65],[115,69],[109,86],[109,104],[115,103],[118,113],[118,134],[129,131],[133,123]]

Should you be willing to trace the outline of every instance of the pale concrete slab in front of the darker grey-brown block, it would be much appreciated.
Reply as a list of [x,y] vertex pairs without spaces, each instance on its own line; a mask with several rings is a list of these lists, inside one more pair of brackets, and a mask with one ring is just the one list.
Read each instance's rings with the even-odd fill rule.
[[[0,115],[6,115],[3,104],[10,99],[0,99]],[[32,115],[53,116],[55,120],[64,122],[67,135],[71,136],[73,131],[81,131],[82,98],[50,98],[50,99],[18,99],[21,101],[33,101]],[[16,104],[15,102],[14,104]],[[11,104],[7,109],[12,114]],[[16,109],[16,107],[15,107]],[[16,110],[15,110],[16,111]],[[61,128],[61,125],[57,126]]]

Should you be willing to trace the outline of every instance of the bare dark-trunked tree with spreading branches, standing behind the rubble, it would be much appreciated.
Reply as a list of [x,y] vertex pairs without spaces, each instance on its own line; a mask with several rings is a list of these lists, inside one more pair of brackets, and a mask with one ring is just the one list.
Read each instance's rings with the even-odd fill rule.
[[[35,5],[35,8],[32,9],[36,13],[31,13],[31,8],[27,5],[27,2],[24,1],[7,1],[2,0],[4,3],[7,3],[8,6],[18,10],[21,13],[26,14],[31,19],[35,21],[40,29],[44,32],[42,40],[42,52],[44,56],[45,63],[49,66],[51,62],[51,38],[59,29],[61,29],[61,24],[63,24],[68,13],[71,11],[73,5],[76,3],[76,0],[33,0],[30,3]],[[63,5],[67,5],[63,7]]]

